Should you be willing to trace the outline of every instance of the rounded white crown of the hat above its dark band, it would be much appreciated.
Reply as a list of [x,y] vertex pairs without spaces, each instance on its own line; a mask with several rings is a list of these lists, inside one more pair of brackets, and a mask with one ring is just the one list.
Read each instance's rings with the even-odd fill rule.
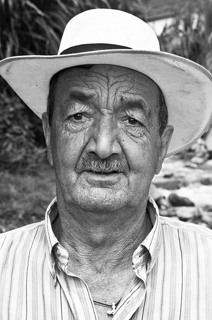
[[142,19],[121,10],[91,9],[67,23],[58,54],[70,47],[94,43],[160,51],[157,35]]

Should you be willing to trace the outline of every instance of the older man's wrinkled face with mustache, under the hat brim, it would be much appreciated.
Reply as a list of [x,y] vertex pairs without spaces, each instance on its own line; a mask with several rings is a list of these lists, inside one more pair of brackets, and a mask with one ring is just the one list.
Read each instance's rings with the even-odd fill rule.
[[64,203],[114,211],[146,198],[172,131],[159,135],[158,94],[154,81],[125,67],[60,72],[51,128],[43,122]]

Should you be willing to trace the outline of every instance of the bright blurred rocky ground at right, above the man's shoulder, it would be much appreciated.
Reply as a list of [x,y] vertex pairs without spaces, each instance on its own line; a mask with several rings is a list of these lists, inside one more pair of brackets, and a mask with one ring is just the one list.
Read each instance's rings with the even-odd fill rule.
[[[160,174],[153,179],[150,194],[162,215],[212,228],[212,159],[200,165],[179,155],[165,159]],[[170,201],[173,194],[177,201],[174,205]]]

